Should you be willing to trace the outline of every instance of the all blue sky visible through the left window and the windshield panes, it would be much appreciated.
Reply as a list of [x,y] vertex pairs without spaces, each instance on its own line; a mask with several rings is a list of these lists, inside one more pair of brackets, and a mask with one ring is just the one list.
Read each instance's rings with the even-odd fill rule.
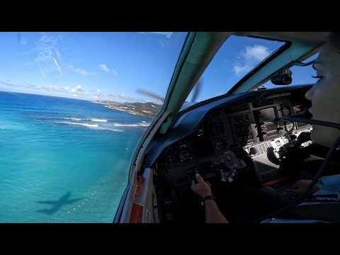
[[[186,33],[0,33],[0,90],[86,100],[154,101],[165,96]],[[224,94],[282,43],[234,37],[203,74],[196,101]],[[296,84],[311,68],[293,67]],[[191,96],[188,97],[190,101]]]

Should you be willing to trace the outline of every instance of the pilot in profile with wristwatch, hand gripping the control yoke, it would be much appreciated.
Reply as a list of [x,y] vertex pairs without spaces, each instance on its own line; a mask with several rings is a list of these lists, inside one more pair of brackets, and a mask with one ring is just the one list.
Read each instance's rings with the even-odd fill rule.
[[[340,33],[331,33],[329,35],[327,42],[322,46],[319,56],[313,63],[313,68],[317,72],[315,76],[317,82],[305,94],[305,98],[312,102],[312,107],[309,109],[312,114],[312,119],[323,120],[330,123],[340,123]],[[337,130],[336,128],[313,125],[312,140],[314,143],[331,147],[338,137],[340,137],[340,130]],[[205,222],[228,222],[225,217],[227,212],[223,215],[220,208],[218,208],[217,203],[215,202],[215,196],[212,196],[210,185],[206,183],[199,174],[196,174],[196,179],[198,183],[196,184],[193,181],[191,190],[202,198],[205,207]],[[290,188],[290,191],[302,193],[311,182],[311,180],[297,181],[293,187]],[[331,209],[331,212],[327,216],[324,216],[327,214],[327,208],[322,210],[317,209],[315,217],[313,215],[308,215],[308,213],[300,212],[299,210],[305,208],[300,205],[329,205],[330,203],[323,202],[326,200],[328,202],[331,201],[331,204],[339,203],[340,205],[340,175],[323,176],[317,181],[316,185],[310,189],[310,193],[312,196],[309,196],[308,200],[302,200],[298,205],[295,205],[295,207],[292,208],[292,211],[297,209],[295,214],[290,214],[288,217],[285,217],[287,215],[281,214],[277,215],[275,218],[269,217],[265,220],[261,220],[261,222],[339,222],[339,219],[336,219],[337,212],[339,211],[334,213],[334,208]],[[276,195],[278,196],[278,194]],[[267,204],[274,205],[272,202],[273,197],[276,195],[272,193],[271,196],[268,196],[270,203]],[[254,198],[254,193],[252,196],[252,198]],[[263,194],[261,194],[259,198],[260,200],[266,200],[266,196],[263,197]],[[248,201],[253,203],[253,205],[256,205],[257,203],[256,199]],[[288,205],[288,203],[291,202],[290,200],[285,201],[281,198],[278,199],[278,201],[279,203],[275,204],[275,208],[271,208],[272,211],[275,211],[280,206]],[[246,203],[244,200],[241,202],[243,204]],[[311,213],[313,212],[313,210],[308,210]],[[247,211],[252,212],[252,210]],[[315,211],[316,210],[314,210],[314,212]],[[263,210],[261,216],[266,217],[266,215],[268,215],[268,210]],[[258,216],[260,215],[256,215],[256,218]]]

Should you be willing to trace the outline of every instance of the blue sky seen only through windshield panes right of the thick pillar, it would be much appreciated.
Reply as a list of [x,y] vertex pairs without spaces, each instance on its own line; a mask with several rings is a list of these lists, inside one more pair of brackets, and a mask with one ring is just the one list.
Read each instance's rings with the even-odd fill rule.
[[[205,69],[201,78],[202,89],[196,101],[227,93],[245,74],[283,45],[284,42],[232,36],[222,45]],[[317,55],[314,55],[305,62],[316,57]],[[310,84],[317,81],[312,78],[312,75],[315,75],[312,65],[292,67],[290,70],[293,72],[293,82],[290,85]],[[265,86],[268,89],[279,87],[271,84],[271,81],[266,82]],[[192,95],[193,92],[188,96],[187,101],[191,101]]]

